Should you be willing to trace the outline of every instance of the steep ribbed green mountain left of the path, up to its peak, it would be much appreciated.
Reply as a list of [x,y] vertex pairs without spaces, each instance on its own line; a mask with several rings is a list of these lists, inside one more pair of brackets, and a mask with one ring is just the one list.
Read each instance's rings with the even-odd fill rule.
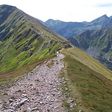
[[16,7],[0,6],[0,77],[50,58],[57,50],[67,46],[65,39],[39,20]]

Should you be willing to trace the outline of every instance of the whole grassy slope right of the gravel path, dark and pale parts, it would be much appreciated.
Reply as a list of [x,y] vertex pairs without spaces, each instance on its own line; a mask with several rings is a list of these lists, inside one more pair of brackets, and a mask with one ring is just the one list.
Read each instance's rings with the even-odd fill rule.
[[112,81],[109,79],[112,73],[77,48],[63,50],[63,53],[66,62],[63,76],[69,82],[78,108],[84,112],[111,112]]

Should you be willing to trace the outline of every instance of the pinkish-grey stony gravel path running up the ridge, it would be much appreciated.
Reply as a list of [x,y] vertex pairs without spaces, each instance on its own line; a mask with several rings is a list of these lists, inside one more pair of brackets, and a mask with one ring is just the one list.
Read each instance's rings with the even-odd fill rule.
[[0,112],[65,112],[58,77],[63,58],[58,54],[8,88],[0,98]]

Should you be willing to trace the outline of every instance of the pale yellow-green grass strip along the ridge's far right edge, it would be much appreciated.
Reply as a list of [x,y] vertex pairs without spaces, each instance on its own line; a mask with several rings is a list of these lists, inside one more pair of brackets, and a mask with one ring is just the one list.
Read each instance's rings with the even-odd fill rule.
[[90,69],[104,75],[106,78],[112,80],[112,71],[107,69],[104,65],[102,65],[98,60],[92,58],[91,56],[87,55],[85,52],[81,51],[78,48],[70,48],[65,51],[64,53],[69,52],[69,54],[79,62],[83,63],[84,65],[88,66]]

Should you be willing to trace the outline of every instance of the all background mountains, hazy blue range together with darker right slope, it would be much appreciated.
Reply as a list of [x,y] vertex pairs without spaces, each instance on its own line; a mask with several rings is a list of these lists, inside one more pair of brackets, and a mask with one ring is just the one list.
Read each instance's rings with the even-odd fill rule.
[[49,19],[45,25],[112,68],[112,16],[103,15],[91,22]]

